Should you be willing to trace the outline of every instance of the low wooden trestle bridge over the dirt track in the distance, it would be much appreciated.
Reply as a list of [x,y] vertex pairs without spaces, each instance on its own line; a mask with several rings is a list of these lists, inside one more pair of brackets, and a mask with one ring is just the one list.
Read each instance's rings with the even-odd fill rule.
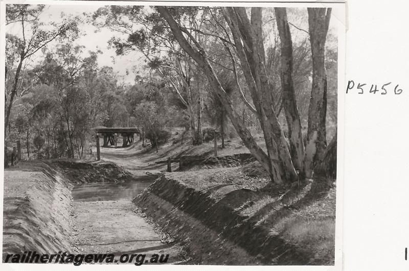
[[122,146],[126,147],[133,142],[133,135],[140,134],[139,128],[113,128],[113,127],[97,127],[93,128],[96,133],[97,140],[97,159],[100,160],[100,135],[104,138],[103,147],[117,147],[118,136],[122,136]]

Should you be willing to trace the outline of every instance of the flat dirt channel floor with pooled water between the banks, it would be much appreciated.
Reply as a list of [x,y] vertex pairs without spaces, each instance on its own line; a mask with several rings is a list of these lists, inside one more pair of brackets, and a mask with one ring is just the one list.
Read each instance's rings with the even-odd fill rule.
[[168,263],[178,262],[179,248],[165,241],[141,216],[132,199],[152,182],[141,173],[127,182],[76,184],[73,195],[73,230],[76,246],[84,254],[169,254]]

